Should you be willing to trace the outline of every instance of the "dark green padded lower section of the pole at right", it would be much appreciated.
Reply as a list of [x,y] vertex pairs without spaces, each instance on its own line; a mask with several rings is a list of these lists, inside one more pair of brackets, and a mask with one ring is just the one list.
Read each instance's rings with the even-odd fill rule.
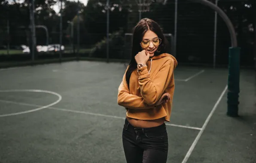
[[227,115],[238,117],[240,93],[240,48],[229,48],[228,111]]

